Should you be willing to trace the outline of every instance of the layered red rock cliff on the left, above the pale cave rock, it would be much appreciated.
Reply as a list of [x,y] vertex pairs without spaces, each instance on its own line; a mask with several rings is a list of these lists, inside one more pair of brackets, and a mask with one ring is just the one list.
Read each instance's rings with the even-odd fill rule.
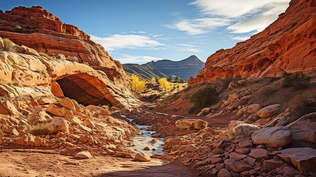
[[[17,25],[21,29],[16,28]],[[120,62],[101,45],[91,41],[89,35],[73,25],[64,24],[42,7],[0,11],[0,36],[37,51],[76,56],[79,63],[87,62],[92,68],[106,73],[118,87],[126,89],[129,86]]]

